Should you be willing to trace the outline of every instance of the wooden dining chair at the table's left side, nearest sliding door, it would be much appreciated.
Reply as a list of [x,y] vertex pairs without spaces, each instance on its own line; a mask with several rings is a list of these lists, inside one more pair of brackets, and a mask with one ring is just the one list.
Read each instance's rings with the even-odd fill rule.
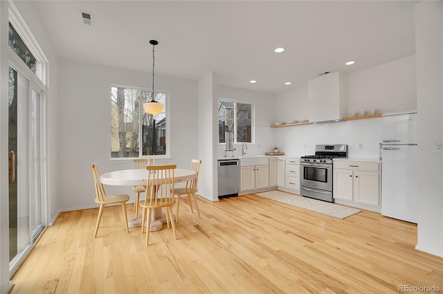
[[105,187],[103,187],[102,183],[100,183],[100,174],[98,173],[97,163],[92,164],[92,173],[94,177],[94,184],[96,187],[95,202],[97,204],[100,204],[100,209],[98,210],[96,230],[94,231],[94,238],[97,237],[98,227],[100,226],[100,221],[103,215],[103,209],[107,204],[114,204],[114,203],[122,204],[123,217],[125,217],[125,227],[126,231],[129,232],[129,227],[127,223],[127,212],[126,212],[126,203],[129,200],[129,195],[126,194],[107,195],[105,192]]

